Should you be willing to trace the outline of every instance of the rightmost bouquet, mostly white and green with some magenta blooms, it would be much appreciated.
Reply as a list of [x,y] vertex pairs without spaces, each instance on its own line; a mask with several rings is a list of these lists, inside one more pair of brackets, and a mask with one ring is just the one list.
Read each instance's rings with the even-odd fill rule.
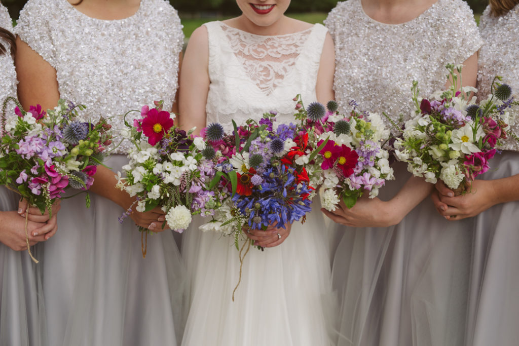
[[417,82],[413,83],[416,116],[405,123],[402,138],[395,141],[395,155],[407,162],[415,176],[435,184],[441,179],[461,195],[470,189],[477,175],[489,169],[488,160],[496,154],[500,139],[506,138],[506,124],[499,113],[513,102],[511,89],[496,78],[488,99],[475,103],[469,100],[471,87],[457,91],[460,66],[447,65],[452,86],[429,99],[418,100]]

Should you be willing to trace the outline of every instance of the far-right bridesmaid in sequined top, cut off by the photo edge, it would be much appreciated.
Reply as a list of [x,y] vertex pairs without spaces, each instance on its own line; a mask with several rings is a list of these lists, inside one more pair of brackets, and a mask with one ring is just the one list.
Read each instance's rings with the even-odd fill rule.
[[[490,93],[496,75],[519,98],[519,1],[491,0],[480,20],[485,45],[480,51],[478,99]],[[505,119],[519,134],[519,107]],[[511,136],[490,161],[491,169],[472,185],[473,193],[449,197],[437,184],[436,208],[449,220],[474,217],[472,276],[467,345],[512,345],[519,342],[519,143]]]

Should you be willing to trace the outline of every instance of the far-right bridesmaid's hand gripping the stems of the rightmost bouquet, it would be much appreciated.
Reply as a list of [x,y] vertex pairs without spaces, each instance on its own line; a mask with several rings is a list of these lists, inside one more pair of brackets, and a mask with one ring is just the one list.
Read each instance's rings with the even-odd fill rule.
[[442,181],[436,183],[431,198],[436,210],[447,220],[461,220],[476,216],[498,203],[498,196],[492,181],[475,180],[472,189],[465,195],[454,196]]

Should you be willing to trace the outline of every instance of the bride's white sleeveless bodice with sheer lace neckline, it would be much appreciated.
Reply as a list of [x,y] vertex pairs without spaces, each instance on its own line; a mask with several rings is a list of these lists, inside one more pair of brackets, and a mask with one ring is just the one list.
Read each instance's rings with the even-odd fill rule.
[[226,130],[247,118],[260,119],[270,110],[277,121],[293,121],[294,96],[305,104],[316,101],[316,83],[326,29],[289,35],[261,36],[222,22],[204,24],[209,35],[207,123]]

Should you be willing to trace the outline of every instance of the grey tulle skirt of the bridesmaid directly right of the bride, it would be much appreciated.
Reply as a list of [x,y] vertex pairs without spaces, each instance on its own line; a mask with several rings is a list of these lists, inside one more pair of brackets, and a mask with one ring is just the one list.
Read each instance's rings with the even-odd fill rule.
[[[389,200],[411,176],[394,164]],[[462,345],[466,326],[472,220],[448,222],[422,201],[388,228],[339,226],[333,264],[339,297],[337,344]]]

